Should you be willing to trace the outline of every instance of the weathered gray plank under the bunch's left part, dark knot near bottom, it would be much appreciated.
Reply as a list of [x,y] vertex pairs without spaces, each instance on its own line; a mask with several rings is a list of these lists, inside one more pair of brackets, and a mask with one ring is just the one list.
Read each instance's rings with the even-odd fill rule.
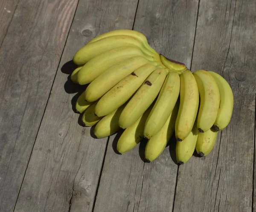
[[[67,78],[75,52],[97,34],[133,25],[137,0],[80,0],[15,212],[93,209],[107,138],[95,140],[79,126],[71,102],[84,86]],[[66,73],[66,74],[64,74]]]

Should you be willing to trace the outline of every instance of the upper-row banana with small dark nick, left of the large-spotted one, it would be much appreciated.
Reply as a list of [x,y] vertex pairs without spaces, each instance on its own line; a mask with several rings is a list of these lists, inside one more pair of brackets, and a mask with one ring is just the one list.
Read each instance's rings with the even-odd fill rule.
[[125,103],[155,69],[154,65],[145,64],[117,83],[99,99],[95,107],[96,115],[105,116]]

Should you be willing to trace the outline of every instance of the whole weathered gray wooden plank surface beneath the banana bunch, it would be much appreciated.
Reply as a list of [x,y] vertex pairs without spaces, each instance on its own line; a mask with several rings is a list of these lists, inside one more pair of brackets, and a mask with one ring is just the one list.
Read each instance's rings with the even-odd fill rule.
[[[230,83],[233,118],[206,158],[177,166],[170,145],[144,163],[143,144],[117,155],[115,136],[79,125],[70,60],[113,29]],[[256,0],[1,0],[0,73],[0,212],[256,210]]]

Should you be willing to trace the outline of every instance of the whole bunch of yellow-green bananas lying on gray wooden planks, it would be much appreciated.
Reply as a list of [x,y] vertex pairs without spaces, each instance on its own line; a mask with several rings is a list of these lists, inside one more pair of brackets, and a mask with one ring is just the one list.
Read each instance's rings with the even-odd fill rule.
[[90,40],[76,52],[78,68],[71,80],[88,84],[76,102],[85,126],[97,138],[122,132],[117,150],[123,154],[148,139],[145,160],[156,159],[172,134],[177,163],[186,163],[196,149],[211,152],[218,131],[230,122],[233,92],[219,74],[191,72],[183,63],[152,49],[144,34],[114,30]]

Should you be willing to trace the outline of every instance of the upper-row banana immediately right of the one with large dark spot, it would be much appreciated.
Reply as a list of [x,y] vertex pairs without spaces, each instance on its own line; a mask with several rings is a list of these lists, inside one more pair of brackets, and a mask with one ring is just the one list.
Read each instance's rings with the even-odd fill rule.
[[156,135],[172,113],[180,94],[180,76],[176,72],[169,72],[163,87],[157,97],[153,109],[145,124],[144,136],[151,138]]

